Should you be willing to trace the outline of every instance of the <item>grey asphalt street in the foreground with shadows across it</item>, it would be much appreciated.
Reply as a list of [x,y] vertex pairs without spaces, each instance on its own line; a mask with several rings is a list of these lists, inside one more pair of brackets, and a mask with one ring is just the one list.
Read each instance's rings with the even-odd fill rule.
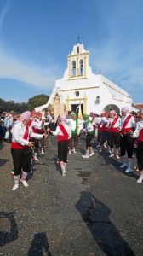
[[[142,256],[143,183],[124,174],[106,149],[82,159],[69,154],[66,177],[57,164],[56,137],[28,177],[29,187],[11,191],[9,143],[0,149],[0,255]],[[136,160],[133,160],[133,167]],[[133,168],[134,169],[134,168]]]

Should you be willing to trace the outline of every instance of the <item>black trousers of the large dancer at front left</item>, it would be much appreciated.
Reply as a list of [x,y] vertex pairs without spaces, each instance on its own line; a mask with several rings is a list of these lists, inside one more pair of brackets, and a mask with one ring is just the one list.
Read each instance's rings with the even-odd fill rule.
[[20,175],[21,169],[24,172],[31,172],[31,148],[11,148],[14,165],[14,175]]

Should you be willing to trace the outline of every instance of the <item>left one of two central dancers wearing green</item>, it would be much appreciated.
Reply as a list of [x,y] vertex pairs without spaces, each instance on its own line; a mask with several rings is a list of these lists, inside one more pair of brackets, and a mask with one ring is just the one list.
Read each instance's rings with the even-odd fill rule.
[[83,120],[77,119],[77,114],[72,113],[72,119],[66,119],[66,124],[69,125],[72,130],[72,137],[69,140],[69,154],[76,154],[76,148],[78,144],[78,125],[83,125]]

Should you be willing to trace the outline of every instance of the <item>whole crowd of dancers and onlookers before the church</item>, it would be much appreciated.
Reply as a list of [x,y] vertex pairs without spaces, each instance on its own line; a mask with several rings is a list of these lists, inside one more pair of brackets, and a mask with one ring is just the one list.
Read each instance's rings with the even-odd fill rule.
[[[66,176],[67,154],[76,154],[78,136],[86,135],[84,158],[94,156],[92,143],[97,143],[99,152],[106,148],[109,157],[122,160],[120,168],[125,172],[132,170],[134,147],[140,172],[137,183],[143,181],[143,110],[129,113],[128,107],[121,109],[121,114],[115,110],[100,113],[83,114],[79,119],[76,113],[69,111],[60,115],[54,122],[54,113],[42,116],[36,111],[26,111],[21,114],[14,112],[2,113],[0,116],[0,140],[11,144],[11,154],[14,165],[14,187],[20,183],[28,186],[26,177],[32,172],[32,161],[39,160],[38,152],[44,154],[44,138],[49,134],[57,136],[58,160],[62,177]],[[95,140],[96,137],[96,140]]]

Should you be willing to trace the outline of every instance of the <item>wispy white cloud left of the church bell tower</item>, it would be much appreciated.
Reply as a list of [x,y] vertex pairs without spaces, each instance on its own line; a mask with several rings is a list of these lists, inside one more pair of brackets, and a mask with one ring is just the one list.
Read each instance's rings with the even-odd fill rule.
[[15,79],[37,88],[50,89],[54,85],[55,75],[49,67],[24,63],[0,49],[0,78]]

